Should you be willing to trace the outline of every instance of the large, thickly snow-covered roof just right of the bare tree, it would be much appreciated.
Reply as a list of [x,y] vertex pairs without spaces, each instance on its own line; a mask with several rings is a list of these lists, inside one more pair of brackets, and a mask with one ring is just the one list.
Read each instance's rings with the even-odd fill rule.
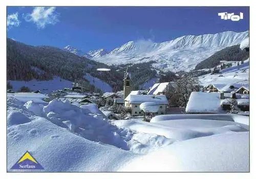
[[186,106],[187,113],[221,113],[220,93],[191,92]]

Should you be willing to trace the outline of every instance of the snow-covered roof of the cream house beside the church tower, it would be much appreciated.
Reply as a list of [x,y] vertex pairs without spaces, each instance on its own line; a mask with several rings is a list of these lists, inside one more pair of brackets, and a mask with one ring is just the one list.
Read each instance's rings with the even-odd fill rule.
[[141,104],[144,102],[155,102],[157,104],[168,104],[168,100],[165,95],[131,95],[131,104]]

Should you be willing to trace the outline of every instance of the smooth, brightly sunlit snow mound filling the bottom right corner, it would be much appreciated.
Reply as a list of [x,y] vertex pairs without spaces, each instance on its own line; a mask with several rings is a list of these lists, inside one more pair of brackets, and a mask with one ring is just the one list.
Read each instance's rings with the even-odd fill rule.
[[231,132],[177,142],[135,158],[118,171],[249,172],[249,133]]

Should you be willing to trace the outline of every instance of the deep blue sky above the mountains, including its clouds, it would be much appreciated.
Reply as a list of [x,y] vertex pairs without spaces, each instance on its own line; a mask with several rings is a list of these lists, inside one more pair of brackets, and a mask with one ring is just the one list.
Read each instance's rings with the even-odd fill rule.
[[[239,14],[223,20],[218,12]],[[113,50],[132,40],[249,30],[248,7],[7,7],[7,36],[30,45]]]

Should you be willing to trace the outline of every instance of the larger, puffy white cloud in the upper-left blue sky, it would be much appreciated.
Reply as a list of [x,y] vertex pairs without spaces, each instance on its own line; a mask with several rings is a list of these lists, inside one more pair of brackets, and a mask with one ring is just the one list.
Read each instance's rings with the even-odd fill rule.
[[56,7],[35,7],[31,14],[25,15],[25,20],[34,22],[38,29],[44,29],[47,24],[55,24],[58,20]]

